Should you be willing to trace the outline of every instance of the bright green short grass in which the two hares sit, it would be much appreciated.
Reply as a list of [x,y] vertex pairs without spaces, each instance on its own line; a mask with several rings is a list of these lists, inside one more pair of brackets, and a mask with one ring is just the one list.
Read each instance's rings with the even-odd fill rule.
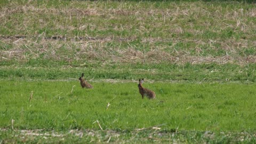
[[157,95],[148,100],[141,98],[137,82],[94,82],[94,89],[82,89],[79,81],[0,83],[3,129],[101,130],[94,123],[98,121],[103,130],[114,131],[153,126],[170,132],[253,134],[256,130],[254,84],[146,81],[145,87]]

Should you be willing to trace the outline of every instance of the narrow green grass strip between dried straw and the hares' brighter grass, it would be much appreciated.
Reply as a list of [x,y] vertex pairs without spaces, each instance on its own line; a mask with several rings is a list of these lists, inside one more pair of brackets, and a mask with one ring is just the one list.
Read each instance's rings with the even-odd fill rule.
[[[253,83],[256,80],[254,63],[240,66],[234,64],[218,65],[216,63],[204,63],[191,65],[184,63],[135,63],[124,65],[111,63],[103,65],[101,62],[85,64],[80,67],[75,64],[71,67],[58,66],[54,61],[45,66],[39,62],[37,67],[25,66],[2,66],[0,79],[12,81],[36,81],[41,80],[66,80],[78,79],[85,73],[86,79],[100,81],[101,79],[116,79],[116,81],[132,81],[132,79],[146,78],[154,81],[175,82],[242,82]],[[50,67],[52,66],[52,67]]]

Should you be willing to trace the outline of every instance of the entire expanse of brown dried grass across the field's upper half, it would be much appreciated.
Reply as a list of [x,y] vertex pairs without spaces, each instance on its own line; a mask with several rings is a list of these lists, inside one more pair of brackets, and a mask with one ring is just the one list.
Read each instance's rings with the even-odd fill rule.
[[[235,3],[235,2],[234,2]],[[231,3],[231,4],[234,4]],[[117,6],[110,6],[117,4]],[[106,1],[99,2],[80,2],[72,1],[70,5],[59,5],[57,7],[47,6],[47,2],[42,5],[36,5],[33,1],[19,4],[18,2],[9,3],[0,7],[0,24],[3,27],[5,23],[12,21],[17,31],[25,31],[31,26],[31,23],[38,22],[39,28],[53,27],[53,29],[68,30],[69,35],[47,35],[38,34],[37,31],[28,32],[26,35],[14,33],[11,35],[1,35],[0,41],[4,44],[12,45],[12,49],[0,50],[0,60],[27,61],[29,59],[39,58],[44,55],[44,59],[55,59],[72,62],[76,61],[105,61],[105,62],[171,62],[182,64],[190,63],[254,63],[255,55],[241,55],[239,52],[247,47],[255,47],[256,42],[253,31],[256,29],[255,23],[249,18],[256,17],[256,9],[231,9],[229,6],[223,7],[216,3],[172,3],[170,7],[158,9],[154,7],[155,3],[144,6],[145,3],[119,3]],[[209,5],[211,4],[211,5]],[[236,3],[235,3],[236,4]],[[239,3],[237,3],[239,5]],[[13,15],[22,15],[25,19],[19,23],[15,21]],[[43,15],[46,16],[42,18]],[[54,18],[51,20],[51,18]],[[84,18],[90,18],[93,22],[82,21]],[[202,20],[201,18],[206,18]],[[191,20],[192,19],[192,20]],[[193,21],[194,19],[194,21]],[[211,21],[213,19],[213,21]],[[54,23],[53,26],[49,22]],[[109,21],[126,23],[118,24]],[[130,22],[129,22],[130,20]],[[77,25],[73,25],[77,21]],[[63,23],[64,22],[64,23]],[[136,25],[138,33],[129,36],[119,35],[74,35],[72,30],[85,31],[89,29],[107,30],[109,25],[114,30],[131,30]],[[194,26],[205,29],[196,29]],[[244,39],[235,39],[233,37],[222,39],[221,37],[207,39],[198,38],[206,30],[221,34],[222,30],[227,28],[234,31],[243,32],[246,35]],[[159,35],[143,36],[143,33],[150,33],[154,29]],[[181,37],[184,33],[193,34],[193,37]],[[17,35],[15,35],[17,34]],[[161,35],[162,34],[162,35]],[[178,35],[172,37],[172,34]],[[130,42],[141,39],[142,45],[148,45],[148,50],[140,50],[138,47],[130,45]],[[107,43],[127,43],[127,47],[107,47]],[[172,42],[171,46],[166,44],[156,46],[156,43]],[[186,47],[186,49],[175,49],[178,43],[193,43],[195,46]],[[214,46],[219,44],[220,47]],[[65,46],[65,50],[60,51]],[[203,55],[202,46],[210,47],[213,51],[219,49],[225,50],[222,55],[208,54]],[[181,47],[183,48],[183,47]],[[74,49],[80,49],[76,51]],[[165,51],[170,49],[170,51]],[[195,50],[191,54],[191,50]],[[84,63],[84,62],[81,62]]]

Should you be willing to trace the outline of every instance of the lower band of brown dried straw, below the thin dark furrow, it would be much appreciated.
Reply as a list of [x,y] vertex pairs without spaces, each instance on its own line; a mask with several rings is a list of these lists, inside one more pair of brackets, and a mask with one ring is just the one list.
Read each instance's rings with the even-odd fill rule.
[[[246,65],[247,63],[255,63],[255,55],[249,55],[243,57],[237,54],[237,50],[246,49],[248,43],[246,41],[235,42],[235,41],[227,41],[226,43],[221,43],[221,47],[223,50],[227,52],[227,54],[223,54],[223,56],[202,56],[200,53],[202,49],[199,47],[195,47],[197,55],[191,55],[189,51],[180,50],[177,51],[173,49],[172,52],[166,52],[163,49],[166,46],[154,47],[155,42],[159,41],[167,41],[167,39],[159,39],[159,38],[149,38],[143,39],[142,42],[153,43],[150,47],[150,51],[141,51],[137,50],[136,47],[129,46],[126,49],[119,49],[119,47],[113,47],[111,49],[105,49],[105,45],[107,42],[115,41],[115,39],[105,38],[105,39],[97,39],[97,38],[89,38],[82,39],[79,41],[62,41],[62,39],[42,39],[39,43],[33,41],[34,38],[5,38],[2,40],[5,43],[13,44],[13,48],[11,50],[1,50],[0,51],[0,59],[2,60],[29,60],[39,58],[39,55],[44,55],[44,59],[55,59],[55,60],[66,60],[72,62],[76,61],[106,61],[106,62],[121,62],[121,63],[136,63],[136,62],[147,62],[147,63],[157,63],[157,62],[170,62],[183,64],[186,62],[196,64],[196,63],[237,63],[239,65]],[[119,41],[124,42],[125,39],[119,39]],[[129,39],[127,41],[132,41]],[[127,42],[125,41],[125,42]],[[204,43],[202,41],[195,41],[197,45],[211,45],[214,42],[210,41],[209,43]],[[33,45],[33,46],[32,46]],[[65,51],[60,53],[62,46],[65,46]],[[175,43],[173,44],[175,45]],[[256,44],[255,44],[256,45]],[[79,51],[75,51],[73,47],[77,47],[80,49]],[[215,49],[215,47],[213,47]],[[115,52],[115,54],[113,54]],[[27,54],[29,53],[29,54]],[[59,53],[59,54],[57,54]],[[71,53],[71,54],[70,54]]]

